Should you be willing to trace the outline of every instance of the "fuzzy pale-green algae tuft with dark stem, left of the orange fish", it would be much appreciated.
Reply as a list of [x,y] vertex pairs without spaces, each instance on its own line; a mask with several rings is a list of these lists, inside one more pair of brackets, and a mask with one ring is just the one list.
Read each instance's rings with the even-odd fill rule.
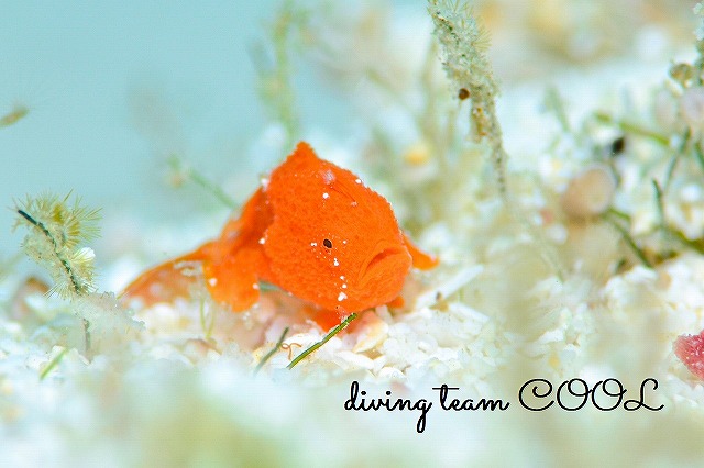
[[54,280],[51,292],[62,298],[77,298],[96,289],[95,254],[80,244],[98,236],[95,222],[100,210],[81,207],[78,198],[69,205],[69,197],[70,193],[63,199],[45,193],[15,203],[15,227],[24,225],[30,230],[22,248],[47,269]]

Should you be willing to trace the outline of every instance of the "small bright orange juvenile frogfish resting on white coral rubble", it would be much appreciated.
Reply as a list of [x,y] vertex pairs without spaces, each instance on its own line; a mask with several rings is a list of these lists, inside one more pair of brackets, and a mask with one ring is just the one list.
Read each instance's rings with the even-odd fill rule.
[[232,311],[254,305],[267,282],[314,305],[327,328],[352,312],[403,303],[411,266],[437,264],[399,229],[384,197],[301,142],[219,238],[142,274],[124,296],[146,305],[187,296],[195,277],[184,271],[195,266]]

